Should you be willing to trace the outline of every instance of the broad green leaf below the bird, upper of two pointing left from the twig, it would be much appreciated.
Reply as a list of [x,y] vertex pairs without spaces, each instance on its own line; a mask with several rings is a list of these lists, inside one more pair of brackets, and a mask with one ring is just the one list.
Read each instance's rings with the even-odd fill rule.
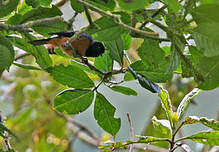
[[92,88],[94,87],[93,81],[87,76],[87,74],[76,66],[58,65],[50,67],[48,72],[59,83],[67,85],[72,88]]

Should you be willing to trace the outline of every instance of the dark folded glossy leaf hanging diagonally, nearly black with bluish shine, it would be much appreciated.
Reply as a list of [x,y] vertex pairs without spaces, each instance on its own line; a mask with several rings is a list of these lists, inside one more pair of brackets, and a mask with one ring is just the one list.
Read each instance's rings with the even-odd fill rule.
[[137,74],[131,67],[128,67],[128,70],[135,77],[135,79],[138,79],[138,82],[143,88],[151,91],[152,93],[160,93],[159,85],[147,80],[143,75]]

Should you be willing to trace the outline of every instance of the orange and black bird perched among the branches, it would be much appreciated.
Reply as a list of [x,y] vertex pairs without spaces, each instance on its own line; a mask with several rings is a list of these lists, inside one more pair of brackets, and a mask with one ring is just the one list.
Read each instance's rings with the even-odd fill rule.
[[[45,45],[49,53],[55,54],[54,49],[60,47],[69,56],[78,57],[98,57],[105,52],[105,47],[101,42],[94,41],[92,36],[82,32],[77,39],[70,42],[70,49],[66,48],[65,42],[70,40],[78,31],[61,31],[48,33],[50,38],[29,41],[34,46]],[[75,54],[75,52],[77,54]]]

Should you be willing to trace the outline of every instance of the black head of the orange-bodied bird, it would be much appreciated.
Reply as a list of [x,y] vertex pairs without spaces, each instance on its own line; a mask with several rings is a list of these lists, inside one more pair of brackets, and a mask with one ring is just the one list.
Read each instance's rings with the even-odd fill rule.
[[102,55],[105,48],[101,42],[94,42],[86,51],[87,57],[98,57]]

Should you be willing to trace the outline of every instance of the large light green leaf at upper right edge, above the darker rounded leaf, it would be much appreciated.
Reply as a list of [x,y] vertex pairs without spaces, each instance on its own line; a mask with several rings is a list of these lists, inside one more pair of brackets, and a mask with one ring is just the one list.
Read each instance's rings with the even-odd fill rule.
[[207,57],[219,55],[219,5],[200,5],[194,9],[192,15],[198,24],[192,33],[198,49],[204,49]]

